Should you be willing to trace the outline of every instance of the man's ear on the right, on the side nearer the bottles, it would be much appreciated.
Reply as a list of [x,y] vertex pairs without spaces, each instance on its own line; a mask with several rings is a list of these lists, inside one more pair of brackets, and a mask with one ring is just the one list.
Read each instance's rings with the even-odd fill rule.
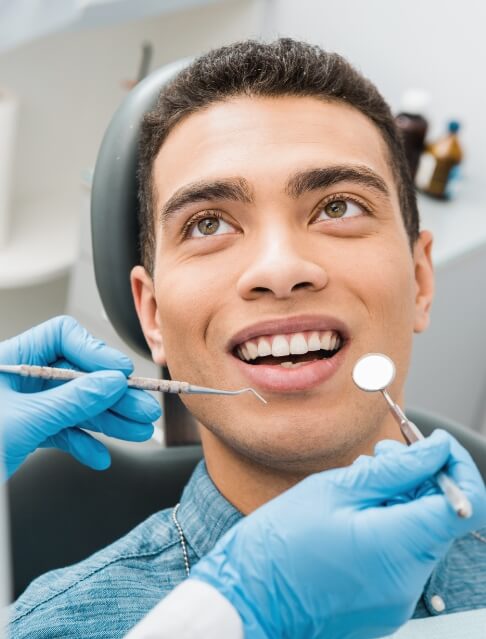
[[413,330],[415,333],[422,333],[430,323],[430,308],[434,297],[432,242],[432,233],[421,231],[413,250],[415,266],[415,321]]

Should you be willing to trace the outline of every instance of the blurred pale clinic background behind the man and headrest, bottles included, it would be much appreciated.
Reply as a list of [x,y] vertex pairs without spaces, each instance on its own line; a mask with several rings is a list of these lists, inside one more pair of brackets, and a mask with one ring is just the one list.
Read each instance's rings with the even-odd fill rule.
[[[344,55],[422,145],[437,289],[407,405],[486,434],[485,23],[477,0],[0,0],[0,339],[68,312],[128,351],[103,312],[90,247],[92,170],[113,112],[167,62],[292,36]],[[129,354],[139,374],[158,375]]]

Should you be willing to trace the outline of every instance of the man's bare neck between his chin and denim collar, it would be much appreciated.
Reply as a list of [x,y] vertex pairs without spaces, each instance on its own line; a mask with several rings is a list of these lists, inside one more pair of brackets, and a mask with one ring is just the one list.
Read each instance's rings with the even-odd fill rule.
[[[206,466],[212,481],[220,493],[244,515],[277,497],[307,475],[326,470],[325,467],[319,467],[292,473],[263,466],[236,452],[208,429],[202,427],[200,430]],[[375,444],[382,439],[405,441],[390,414],[370,441],[346,458],[336,459],[336,463],[328,468],[352,464],[359,455],[373,455]]]

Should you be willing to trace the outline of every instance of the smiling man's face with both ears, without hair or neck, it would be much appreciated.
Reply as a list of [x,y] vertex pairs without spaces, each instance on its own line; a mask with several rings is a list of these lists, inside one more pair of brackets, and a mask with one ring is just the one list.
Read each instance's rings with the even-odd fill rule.
[[389,355],[401,399],[431,242],[412,254],[373,123],[342,103],[236,97],[182,120],[153,176],[154,280],[141,267],[132,280],[154,360],[268,400],[185,396],[195,417],[246,458],[297,471],[398,437],[351,373],[365,353]]

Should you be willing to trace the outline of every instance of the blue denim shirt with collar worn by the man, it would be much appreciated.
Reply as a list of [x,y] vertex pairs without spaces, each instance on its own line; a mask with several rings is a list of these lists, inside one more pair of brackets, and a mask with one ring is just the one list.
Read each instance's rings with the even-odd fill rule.
[[[190,565],[241,517],[200,462],[177,513]],[[11,638],[118,639],[185,577],[172,509],[160,511],[89,559],[36,579],[12,606]],[[486,607],[486,529],[454,543],[414,617],[439,614],[434,595],[445,602],[442,614]]]

